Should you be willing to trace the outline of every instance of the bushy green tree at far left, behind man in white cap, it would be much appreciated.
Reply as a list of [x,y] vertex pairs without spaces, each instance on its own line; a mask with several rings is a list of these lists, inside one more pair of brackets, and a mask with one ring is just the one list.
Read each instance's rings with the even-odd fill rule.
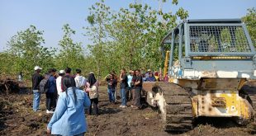
[[7,53],[12,54],[10,63],[15,62],[10,68],[12,73],[23,72],[26,77],[30,77],[36,65],[44,70],[51,68],[54,65],[52,60],[55,49],[45,48],[42,44],[45,44],[43,31],[36,30],[36,26],[30,26],[13,35],[7,43]]

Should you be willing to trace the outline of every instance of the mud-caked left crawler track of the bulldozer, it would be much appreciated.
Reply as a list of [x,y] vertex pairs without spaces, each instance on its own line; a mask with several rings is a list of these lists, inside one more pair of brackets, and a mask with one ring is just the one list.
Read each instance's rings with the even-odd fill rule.
[[190,94],[174,83],[162,82],[154,89],[164,92],[166,102],[164,120],[164,130],[166,131],[187,131],[192,129],[192,101]]

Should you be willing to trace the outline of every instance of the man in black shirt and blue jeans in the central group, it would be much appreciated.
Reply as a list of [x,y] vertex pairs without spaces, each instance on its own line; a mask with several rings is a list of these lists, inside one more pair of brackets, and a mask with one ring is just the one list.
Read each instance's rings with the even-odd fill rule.
[[121,89],[121,108],[126,108],[126,87],[127,85],[127,76],[126,76],[126,69],[121,69],[120,74],[120,89]]

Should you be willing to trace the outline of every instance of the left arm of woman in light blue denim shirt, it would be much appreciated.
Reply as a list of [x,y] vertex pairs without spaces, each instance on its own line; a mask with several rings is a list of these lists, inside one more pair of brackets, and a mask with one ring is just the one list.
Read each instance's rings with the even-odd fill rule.
[[66,94],[62,93],[61,95],[59,95],[55,113],[52,116],[52,118],[50,119],[50,122],[47,125],[47,129],[51,130],[52,125],[55,124],[55,122],[57,122],[62,117],[62,115],[64,115],[65,110],[67,110],[68,106],[66,104],[66,101],[64,100],[64,95],[66,95]]

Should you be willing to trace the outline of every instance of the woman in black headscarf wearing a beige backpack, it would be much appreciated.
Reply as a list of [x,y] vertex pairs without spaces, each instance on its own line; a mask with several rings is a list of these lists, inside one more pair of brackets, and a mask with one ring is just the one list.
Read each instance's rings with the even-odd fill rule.
[[92,106],[93,106],[93,115],[98,115],[98,82],[94,76],[94,73],[89,73],[88,75],[88,96],[90,97],[91,100],[91,106],[88,109],[88,115],[92,115]]

